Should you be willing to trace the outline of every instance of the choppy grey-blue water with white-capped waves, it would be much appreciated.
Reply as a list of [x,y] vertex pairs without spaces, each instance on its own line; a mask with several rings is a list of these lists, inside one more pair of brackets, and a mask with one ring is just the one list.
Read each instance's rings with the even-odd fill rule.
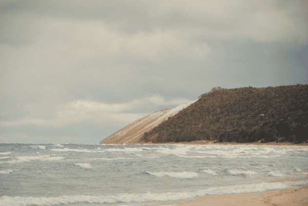
[[0,144],[0,205],[175,205],[308,184],[308,149]]

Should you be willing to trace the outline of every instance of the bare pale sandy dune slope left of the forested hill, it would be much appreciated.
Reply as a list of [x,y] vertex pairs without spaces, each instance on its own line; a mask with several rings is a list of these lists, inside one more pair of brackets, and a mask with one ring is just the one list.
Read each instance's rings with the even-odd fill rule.
[[195,103],[197,100],[181,104],[173,109],[153,111],[151,114],[140,118],[133,123],[127,125],[123,129],[120,129],[118,132],[113,133],[112,135],[101,141],[100,144],[141,143],[141,138],[145,132],[149,132],[149,130],[168,120],[169,117],[176,115],[179,111],[186,108],[190,104]]

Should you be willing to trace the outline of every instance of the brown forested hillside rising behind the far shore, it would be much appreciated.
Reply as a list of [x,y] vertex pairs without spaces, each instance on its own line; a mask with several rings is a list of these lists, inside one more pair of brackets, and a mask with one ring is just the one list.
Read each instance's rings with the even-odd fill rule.
[[142,142],[290,141],[308,139],[308,85],[213,88],[145,133]]

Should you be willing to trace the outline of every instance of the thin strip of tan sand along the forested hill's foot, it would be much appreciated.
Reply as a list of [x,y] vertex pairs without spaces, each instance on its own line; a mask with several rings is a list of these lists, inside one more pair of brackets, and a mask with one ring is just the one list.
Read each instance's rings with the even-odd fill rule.
[[255,145],[255,146],[274,146],[274,147],[299,147],[308,148],[308,143],[293,144],[290,142],[252,142],[252,143],[237,143],[237,142],[215,142],[215,140],[199,140],[192,142],[164,142],[164,143],[139,143],[139,144],[189,144],[189,145]]

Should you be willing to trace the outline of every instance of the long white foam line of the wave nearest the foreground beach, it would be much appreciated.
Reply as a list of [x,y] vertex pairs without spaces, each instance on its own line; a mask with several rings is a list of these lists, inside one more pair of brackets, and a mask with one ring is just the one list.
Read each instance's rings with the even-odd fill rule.
[[246,185],[232,185],[225,187],[210,187],[205,190],[198,190],[193,192],[168,192],[168,193],[138,193],[128,194],[122,193],[118,195],[65,195],[60,197],[11,197],[2,196],[0,198],[0,206],[26,206],[26,205],[54,205],[54,204],[68,204],[77,202],[87,203],[115,203],[115,202],[146,202],[146,201],[175,201],[181,199],[196,198],[204,195],[215,194],[234,194],[234,193],[248,193],[261,192],[266,190],[284,189],[287,185],[281,182],[269,182]]

